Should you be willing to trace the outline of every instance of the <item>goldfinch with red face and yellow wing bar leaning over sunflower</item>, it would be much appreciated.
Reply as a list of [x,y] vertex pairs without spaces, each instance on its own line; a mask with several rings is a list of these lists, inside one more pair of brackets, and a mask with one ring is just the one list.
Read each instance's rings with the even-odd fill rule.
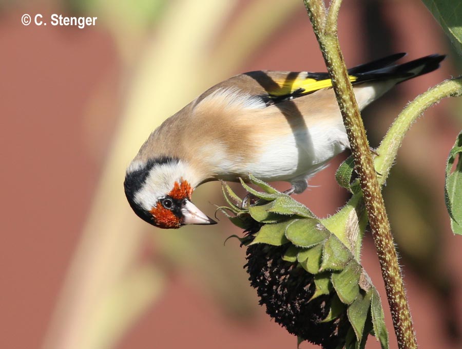
[[[394,85],[427,74],[440,54],[396,64],[406,53],[348,70],[359,109]],[[291,183],[299,194],[328,162],[350,148],[326,72],[258,70],[207,89],[167,118],[130,162],[125,195],[134,213],[164,229],[216,224],[192,204],[213,180]]]

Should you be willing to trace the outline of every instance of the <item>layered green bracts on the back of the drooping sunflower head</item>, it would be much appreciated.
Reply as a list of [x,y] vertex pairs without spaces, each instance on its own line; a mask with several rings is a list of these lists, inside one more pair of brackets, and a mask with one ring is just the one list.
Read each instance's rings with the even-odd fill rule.
[[[457,152],[452,153],[454,158]],[[454,159],[452,161],[454,163]],[[237,207],[239,212],[234,212],[233,207],[229,208],[237,215],[230,219],[239,219],[246,227],[244,229],[255,229],[257,222],[263,223],[259,232],[247,235],[241,243],[246,246],[258,243],[274,246],[287,244],[282,260],[298,262],[313,275],[315,290],[311,300],[321,295],[331,298],[329,314],[322,322],[348,316],[351,328],[345,347],[364,349],[368,335],[372,334],[380,341],[382,349],[388,349],[388,332],[378,293],[353,254],[358,253],[359,260],[361,236],[367,223],[361,196],[353,195],[347,207],[334,215],[335,219],[329,217],[321,220],[290,196],[277,192],[255,177],[249,176],[249,179],[264,192],[249,187],[241,180],[244,188],[262,199],[258,204],[264,200],[269,202],[245,209]],[[224,187],[226,191],[228,189]],[[345,226],[348,228],[345,229]]]

